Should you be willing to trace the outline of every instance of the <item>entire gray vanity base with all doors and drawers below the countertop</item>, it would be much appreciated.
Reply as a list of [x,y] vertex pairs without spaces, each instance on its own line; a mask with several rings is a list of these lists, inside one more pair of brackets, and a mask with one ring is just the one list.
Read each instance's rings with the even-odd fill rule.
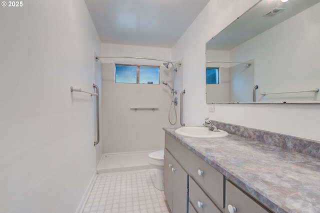
[[271,213],[167,133],[164,195],[172,213]]

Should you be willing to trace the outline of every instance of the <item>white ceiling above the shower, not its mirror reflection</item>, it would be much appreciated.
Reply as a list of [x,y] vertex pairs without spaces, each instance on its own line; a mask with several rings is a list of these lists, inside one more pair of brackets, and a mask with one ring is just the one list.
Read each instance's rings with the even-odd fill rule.
[[103,43],[172,47],[209,0],[84,0]]

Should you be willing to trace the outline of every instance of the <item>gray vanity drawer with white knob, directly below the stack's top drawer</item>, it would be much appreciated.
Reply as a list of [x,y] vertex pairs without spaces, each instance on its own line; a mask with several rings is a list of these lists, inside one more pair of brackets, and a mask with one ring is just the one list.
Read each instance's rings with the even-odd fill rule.
[[189,177],[189,201],[198,213],[221,213],[202,189]]

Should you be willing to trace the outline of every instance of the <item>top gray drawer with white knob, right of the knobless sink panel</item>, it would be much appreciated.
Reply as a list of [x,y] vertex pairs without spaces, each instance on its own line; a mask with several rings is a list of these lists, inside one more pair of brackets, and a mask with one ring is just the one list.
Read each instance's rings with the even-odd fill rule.
[[192,151],[189,151],[188,173],[203,188],[210,199],[222,210],[223,174],[218,172]]

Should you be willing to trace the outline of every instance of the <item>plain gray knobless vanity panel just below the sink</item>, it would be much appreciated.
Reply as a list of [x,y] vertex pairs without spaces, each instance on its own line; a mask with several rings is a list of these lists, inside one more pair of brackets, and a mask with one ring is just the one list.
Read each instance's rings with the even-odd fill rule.
[[186,170],[188,167],[189,149],[165,133],[165,148],[174,156],[176,161]]

